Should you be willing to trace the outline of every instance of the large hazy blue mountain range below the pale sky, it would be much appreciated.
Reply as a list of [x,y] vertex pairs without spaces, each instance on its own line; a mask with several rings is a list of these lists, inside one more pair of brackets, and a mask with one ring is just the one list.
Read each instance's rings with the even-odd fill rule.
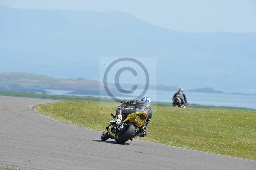
[[1,72],[99,80],[101,56],[156,56],[154,84],[256,91],[255,34],[183,33],[123,12],[0,6],[0,16]]

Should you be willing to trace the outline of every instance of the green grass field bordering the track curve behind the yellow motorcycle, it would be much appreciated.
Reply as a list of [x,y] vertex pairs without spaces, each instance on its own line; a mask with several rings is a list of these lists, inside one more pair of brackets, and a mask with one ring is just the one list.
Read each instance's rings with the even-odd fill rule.
[[[116,103],[57,102],[36,111],[68,123],[103,131]],[[256,160],[256,111],[153,106],[142,140]],[[100,136],[95,136],[100,138]]]

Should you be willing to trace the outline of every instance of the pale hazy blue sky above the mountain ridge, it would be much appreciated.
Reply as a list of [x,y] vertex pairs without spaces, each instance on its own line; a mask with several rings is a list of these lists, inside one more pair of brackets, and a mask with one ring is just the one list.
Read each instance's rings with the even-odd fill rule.
[[0,0],[16,8],[121,11],[184,32],[256,33],[255,0]]

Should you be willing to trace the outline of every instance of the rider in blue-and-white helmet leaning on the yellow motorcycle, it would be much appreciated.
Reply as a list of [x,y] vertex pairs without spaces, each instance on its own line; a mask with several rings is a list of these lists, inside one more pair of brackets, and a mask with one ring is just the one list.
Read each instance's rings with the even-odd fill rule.
[[[121,101],[121,105],[116,109],[116,123],[117,129],[123,129],[123,124],[121,124],[123,114],[127,116],[128,114],[135,113],[135,112],[145,112],[148,114],[148,119],[146,120],[146,126],[148,126],[149,120],[152,118],[152,110],[151,110],[151,100],[149,97],[144,96],[140,100],[134,101]],[[131,108],[134,106],[134,108]],[[146,136],[146,131],[142,132],[139,136],[144,137]]]

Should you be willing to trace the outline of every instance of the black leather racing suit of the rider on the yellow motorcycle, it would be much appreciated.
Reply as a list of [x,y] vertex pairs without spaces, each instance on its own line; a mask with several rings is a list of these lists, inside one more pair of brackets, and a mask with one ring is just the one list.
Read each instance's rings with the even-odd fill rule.
[[[129,108],[130,106],[134,106],[134,109]],[[149,120],[152,118],[152,109],[149,102],[141,100],[125,101],[116,109],[116,114],[124,114],[125,116],[135,112],[146,112],[148,114],[146,125],[148,125]]]

